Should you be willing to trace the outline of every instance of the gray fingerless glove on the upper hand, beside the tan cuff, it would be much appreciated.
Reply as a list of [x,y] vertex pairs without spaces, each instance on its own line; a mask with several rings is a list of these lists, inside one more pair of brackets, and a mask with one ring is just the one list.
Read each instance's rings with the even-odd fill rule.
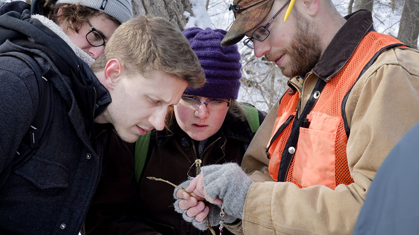
[[242,219],[247,190],[253,182],[250,177],[236,163],[205,166],[201,173],[205,193],[223,201],[225,214]]

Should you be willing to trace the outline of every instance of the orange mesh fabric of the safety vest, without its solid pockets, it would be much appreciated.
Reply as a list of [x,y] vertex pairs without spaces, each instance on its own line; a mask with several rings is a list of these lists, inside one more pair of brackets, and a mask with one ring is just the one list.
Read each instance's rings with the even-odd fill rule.
[[[368,33],[363,40],[361,41],[358,48],[352,54],[352,57],[348,60],[346,65],[336,74],[334,75],[325,86],[324,90],[321,92],[320,97],[318,98],[316,104],[314,105],[313,109],[311,110],[316,112],[326,113],[331,116],[339,117],[340,124],[338,126],[338,130],[336,133],[336,140],[335,140],[335,179],[336,185],[338,184],[350,184],[353,182],[353,179],[350,176],[349,168],[348,168],[348,161],[346,156],[346,144],[347,144],[347,136],[344,129],[344,123],[342,120],[342,113],[341,113],[341,104],[343,101],[344,96],[349,91],[349,89],[353,86],[353,84],[358,79],[359,74],[361,73],[362,69],[366,66],[366,64],[373,58],[373,56],[379,52],[382,48],[386,46],[390,46],[393,44],[401,44],[401,42],[397,41],[394,37],[390,35],[384,35],[377,32],[370,32]],[[279,113],[283,113],[286,111],[294,111],[297,105],[297,101],[295,97],[298,95],[294,95],[294,99],[290,99],[291,97],[284,97],[281,100],[281,104],[278,108],[278,115]],[[295,112],[294,112],[295,113]],[[277,140],[270,146],[269,153],[271,156],[271,161],[273,158],[279,158],[273,161],[273,163],[278,164],[276,168],[276,172],[271,172],[271,162],[270,162],[270,173],[271,176],[273,175],[274,179],[277,179],[280,158],[282,152],[284,150],[285,144],[287,139],[291,134],[291,126],[289,124],[287,128],[280,134],[281,141]],[[279,144],[278,144],[279,142]],[[292,160],[290,166],[287,170],[287,175],[285,181],[287,182],[294,182],[300,188],[297,182],[293,180],[293,171],[294,171],[294,159]],[[276,176],[276,177],[274,177]]]

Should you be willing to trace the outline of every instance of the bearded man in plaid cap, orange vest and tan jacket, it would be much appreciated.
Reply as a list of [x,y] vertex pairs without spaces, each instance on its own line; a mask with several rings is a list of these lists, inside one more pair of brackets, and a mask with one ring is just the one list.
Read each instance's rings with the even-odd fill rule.
[[175,207],[213,225],[220,216],[200,201],[222,204],[222,221],[241,219],[224,225],[237,233],[350,234],[377,169],[419,121],[418,51],[374,31],[371,12],[343,18],[329,0],[235,0],[230,10],[221,45],[247,36],[290,88],[241,168],[202,167],[181,184],[196,196],[177,190]]

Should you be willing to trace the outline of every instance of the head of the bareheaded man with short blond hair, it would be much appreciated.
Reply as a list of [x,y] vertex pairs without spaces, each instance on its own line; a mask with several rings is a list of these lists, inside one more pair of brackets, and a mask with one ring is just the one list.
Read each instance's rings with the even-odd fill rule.
[[122,140],[135,142],[163,130],[169,106],[187,86],[201,86],[205,74],[186,38],[163,18],[138,17],[116,32],[91,66],[116,102],[94,121],[111,123]]

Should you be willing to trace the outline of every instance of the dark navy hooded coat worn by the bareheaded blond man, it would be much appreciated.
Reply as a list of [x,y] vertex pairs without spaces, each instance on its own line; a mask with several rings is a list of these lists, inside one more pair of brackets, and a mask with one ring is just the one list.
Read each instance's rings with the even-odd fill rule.
[[[0,16],[0,53],[33,54],[44,71],[53,71],[53,119],[37,152],[0,188],[0,234],[78,234],[101,170],[95,149],[103,144],[89,139],[93,111],[99,114],[111,99],[87,64],[30,15],[26,9]],[[0,57],[0,172],[43,105],[38,99],[33,70]]]

